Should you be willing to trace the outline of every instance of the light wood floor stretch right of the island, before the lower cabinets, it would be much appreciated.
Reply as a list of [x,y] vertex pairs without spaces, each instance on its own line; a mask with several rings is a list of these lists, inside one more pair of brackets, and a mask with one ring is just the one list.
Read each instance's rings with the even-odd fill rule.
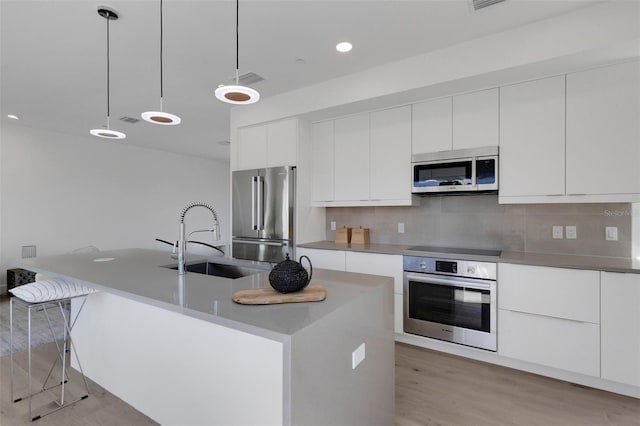
[[638,426],[640,400],[397,343],[396,425]]

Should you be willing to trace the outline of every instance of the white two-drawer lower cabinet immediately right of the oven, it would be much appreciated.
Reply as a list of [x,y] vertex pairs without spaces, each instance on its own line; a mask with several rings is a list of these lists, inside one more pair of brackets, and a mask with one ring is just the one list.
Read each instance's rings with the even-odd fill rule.
[[498,266],[498,354],[600,376],[600,272]]

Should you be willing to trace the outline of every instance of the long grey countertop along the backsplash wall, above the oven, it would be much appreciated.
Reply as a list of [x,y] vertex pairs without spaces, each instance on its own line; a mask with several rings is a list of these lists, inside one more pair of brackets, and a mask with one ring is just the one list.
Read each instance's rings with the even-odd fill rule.
[[[368,244],[351,245],[336,244],[333,241],[317,241],[298,244],[298,247],[322,250],[346,250],[393,255],[425,255],[444,259],[474,259],[492,262],[516,263],[532,266],[549,266],[555,268],[590,269],[594,271],[622,272],[640,274],[640,260],[632,258],[616,258],[605,256],[582,256],[568,254],[544,254],[515,251],[503,251],[500,256],[465,256],[452,253],[425,253],[409,250],[411,245],[403,244]],[[312,259],[313,261],[313,259]]]

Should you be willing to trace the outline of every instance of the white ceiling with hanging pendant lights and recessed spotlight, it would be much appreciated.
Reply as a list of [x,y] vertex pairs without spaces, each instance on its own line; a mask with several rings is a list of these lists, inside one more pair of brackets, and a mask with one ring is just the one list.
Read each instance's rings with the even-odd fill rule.
[[[593,0],[240,1],[240,73],[262,97],[326,81],[574,11]],[[2,122],[89,136],[106,124],[106,21],[111,21],[111,128],[124,143],[227,160],[230,106],[213,91],[235,72],[235,1],[164,0],[164,110],[179,126],[119,121],[160,108],[159,0],[0,0]],[[335,51],[348,40],[354,49]],[[303,59],[304,64],[296,63]],[[398,76],[400,78],[401,76]],[[242,108],[242,107],[239,107]]]

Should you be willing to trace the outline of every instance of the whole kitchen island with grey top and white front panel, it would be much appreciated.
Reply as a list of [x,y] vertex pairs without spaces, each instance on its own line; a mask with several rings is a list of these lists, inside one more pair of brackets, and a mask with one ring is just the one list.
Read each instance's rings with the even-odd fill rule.
[[317,269],[326,300],[251,306],[231,295],[268,272],[179,277],[172,263],[125,249],[19,266],[101,290],[73,331],[85,374],[162,424],[393,424],[391,278]]

